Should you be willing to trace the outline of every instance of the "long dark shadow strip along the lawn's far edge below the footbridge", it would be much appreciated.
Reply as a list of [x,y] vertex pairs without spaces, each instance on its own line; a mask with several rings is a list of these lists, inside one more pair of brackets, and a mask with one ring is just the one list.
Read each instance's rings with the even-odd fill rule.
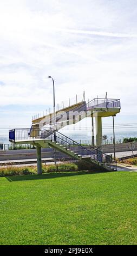
[[[108,172],[108,171],[106,171]],[[76,176],[76,175],[85,175],[85,174],[96,174],[96,173],[105,173],[105,172],[99,172],[99,171],[79,171],[79,172],[67,172],[67,173],[45,173],[42,175],[22,175],[22,176],[6,176],[5,178],[8,179],[8,181],[25,181],[25,180],[43,180],[43,179],[55,179],[60,177],[67,177],[67,176]]]

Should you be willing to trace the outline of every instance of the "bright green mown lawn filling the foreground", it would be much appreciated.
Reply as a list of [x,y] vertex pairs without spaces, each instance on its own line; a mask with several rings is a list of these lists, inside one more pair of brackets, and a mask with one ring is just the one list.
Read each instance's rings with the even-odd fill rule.
[[136,245],[137,173],[0,178],[1,245]]

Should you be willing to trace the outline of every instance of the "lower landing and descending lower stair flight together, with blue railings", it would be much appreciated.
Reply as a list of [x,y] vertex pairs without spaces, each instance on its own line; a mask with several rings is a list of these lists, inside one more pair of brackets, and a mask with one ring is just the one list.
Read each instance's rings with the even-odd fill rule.
[[95,167],[100,166],[107,170],[117,169],[116,161],[111,156],[102,153],[97,148],[83,147],[58,131],[54,133],[54,130],[35,129],[30,135],[30,129],[14,129],[9,131],[9,140],[16,144],[23,144],[25,142],[39,145],[42,148],[51,147],[75,160],[86,161]]

